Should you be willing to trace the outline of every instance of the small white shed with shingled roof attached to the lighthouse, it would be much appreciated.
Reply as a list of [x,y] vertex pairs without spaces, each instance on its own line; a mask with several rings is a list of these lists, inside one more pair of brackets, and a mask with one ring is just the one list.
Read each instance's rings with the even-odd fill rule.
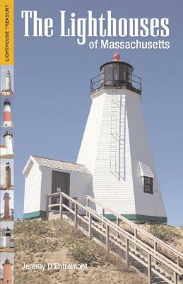
[[49,193],[65,192],[71,197],[90,195],[92,175],[85,165],[31,155],[23,174],[24,219],[45,217]]

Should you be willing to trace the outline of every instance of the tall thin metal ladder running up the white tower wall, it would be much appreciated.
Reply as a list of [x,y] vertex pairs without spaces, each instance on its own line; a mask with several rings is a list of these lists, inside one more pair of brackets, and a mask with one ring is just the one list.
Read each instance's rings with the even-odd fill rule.
[[125,98],[112,90],[111,96],[111,137],[110,171],[118,180],[125,179]]

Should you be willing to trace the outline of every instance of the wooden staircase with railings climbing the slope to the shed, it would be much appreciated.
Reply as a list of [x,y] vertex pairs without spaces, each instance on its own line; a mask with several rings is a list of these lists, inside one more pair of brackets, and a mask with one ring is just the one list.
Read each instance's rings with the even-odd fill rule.
[[[59,197],[59,204],[51,204],[52,197]],[[53,209],[58,206],[59,212]],[[88,238],[122,258],[127,268],[146,277],[148,284],[183,284],[182,253],[92,197],[71,198],[63,192],[47,195],[47,219],[49,212],[59,219],[69,218]],[[115,221],[105,214],[112,214]]]

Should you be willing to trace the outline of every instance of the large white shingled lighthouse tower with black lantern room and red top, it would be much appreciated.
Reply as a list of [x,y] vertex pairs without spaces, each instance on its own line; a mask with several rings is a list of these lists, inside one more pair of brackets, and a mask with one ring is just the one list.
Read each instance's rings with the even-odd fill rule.
[[91,80],[92,105],[77,163],[93,174],[90,194],[105,206],[135,222],[167,222],[141,113],[141,78],[133,71],[116,54]]

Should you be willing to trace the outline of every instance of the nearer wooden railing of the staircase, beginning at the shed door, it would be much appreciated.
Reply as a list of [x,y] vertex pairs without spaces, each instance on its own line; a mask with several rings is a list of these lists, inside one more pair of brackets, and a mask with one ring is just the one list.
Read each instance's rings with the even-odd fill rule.
[[[75,204],[75,209],[73,210],[70,207],[67,207],[66,204],[63,204],[61,202],[59,204],[49,204],[49,197],[53,197],[53,196],[60,196],[61,197],[60,198],[61,202],[63,202],[63,197],[66,198],[66,200],[69,200],[71,203]],[[87,197],[87,196],[85,196],[85,197]],[[81,198],[81,197],[79,197],[79,198]],[[162,263],[164,266],[169,268],[170,271],[172,271],[172,273],[175,273],[175,275],[179,275],[179,276],[182,275],[183,268],[181,266],[178,266],[176,263],[171,261],[169,258],[166,258],[165,256],[163,256],[158,251],[154,251],[150,246],[148,246],[147,244],[144,244],[143,241],[141,241],[137,237],[136,237],[136,239],[134,239],[134,236],[129,234],[128,231],[125,231],[121,227],[117,226],[117,224],[114,224],[113,222],[110,222],[106,217],[102,217],[100,214],[98,214],[98,212],[95,212],[93,209],[90,209],[90,207],[85,207],[84,205],[82,205],[81,203],[76,201],[76,198],[73,199],[73,198],[69,197],[68,195],[64,194],[64,192],[57,192],[57,193],[54,193],[54,194],[47,195],[47,217],[48,217],[49,207],[51,208],[51,207],[59,206],[59,205],[60,205],[60,210],[62,210],[62,206],[63,206],[66,209],[69,209],[69,212],[72,212],[74,214],[74,224],[75,224],[75,226],[76,226],[76,223],[77,223],[77,216],[79,218],[81,218],[79,215],[77,215],[78,214],[78,209],[83,209],[89,215],[90,218],[94,217],[99,222],[101,222],[101,224],[105,224],[107,248],[108,248],[108,243],[107,243],[108,239],[107,238],[109,236],[108,230],[112,229],[112,231],[114,231],[117,235],[122,236],[122,238],[127,239],[128,241],[130,241],[131,244],[133,244],[135,247],[138,247],[138,249],[140,249],[141,251],[144,251],[145,253],[147,253],[147,255],[150,256],[150,259],[154,258],[155,261],[158,261],[158,262]],[[91,224],[91,222],[89,221],[88,224]],[[90,229],[89,229],[89,235],[90,235]],[[128,244],[128,246],[129,246],[129,244]],[[130,253],[131,256],[136,258],[136,256],[133,255],[130,251],[129,251],[129,253]],[[128,259],[127,259],[127,261],[128,261]],[[141,262],[141,260],[139,260],[139,261]],[[144,266],[147,265],[146,261],[143,261],[143,265]],[[151,271],[154,272],[154,269],[152,268]],[[172,282],[167,280],[167,283],[172,283]]]

